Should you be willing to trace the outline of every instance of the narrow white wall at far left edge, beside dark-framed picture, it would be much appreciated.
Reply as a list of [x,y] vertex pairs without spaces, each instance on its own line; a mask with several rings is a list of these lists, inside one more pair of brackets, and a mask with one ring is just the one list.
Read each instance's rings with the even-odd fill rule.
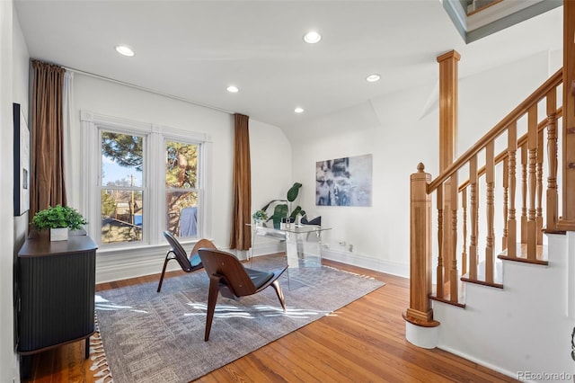
[[26,236],[28,218],[13,217],[12,103],[28,113],[29,56],[11,1],[0,2],[0,381],[18,380],[14,353],[13,265]]

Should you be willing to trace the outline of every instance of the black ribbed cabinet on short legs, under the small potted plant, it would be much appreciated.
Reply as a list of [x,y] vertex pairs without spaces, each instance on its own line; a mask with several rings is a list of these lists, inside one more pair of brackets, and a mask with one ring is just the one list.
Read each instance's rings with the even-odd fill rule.
[[21,375],[30,356],[60,344],[85,341],[94,333],[96,248],[85,235],[50,242],[49,232],[32,232],[18,253],[17,347]]

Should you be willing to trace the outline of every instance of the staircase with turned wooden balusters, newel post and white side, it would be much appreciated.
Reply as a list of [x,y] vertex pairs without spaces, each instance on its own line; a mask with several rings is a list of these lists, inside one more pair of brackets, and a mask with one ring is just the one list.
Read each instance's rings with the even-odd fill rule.
[[423,164],[411,174],[407,340],[526,381],[575,381],[575,232],[558,214],[571,134],[558,129],[562,77],[436,179]]

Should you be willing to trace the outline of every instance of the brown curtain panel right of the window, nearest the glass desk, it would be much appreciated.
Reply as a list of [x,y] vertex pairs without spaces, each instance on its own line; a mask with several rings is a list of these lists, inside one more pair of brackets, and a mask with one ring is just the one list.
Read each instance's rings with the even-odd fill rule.
[[234,114],[234,207],[232,208],[232,234],[230,248],[249,250],[252,247],[252,230],[245,224],[252,222],[252,170],[250,161],[250,118]]

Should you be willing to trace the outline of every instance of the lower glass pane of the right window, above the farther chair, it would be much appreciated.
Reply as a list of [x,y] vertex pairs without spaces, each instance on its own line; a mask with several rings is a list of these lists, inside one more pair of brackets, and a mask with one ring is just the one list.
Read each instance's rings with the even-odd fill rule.
[[198,236],[198,192],[166,192],[166,227],[174,236]]

